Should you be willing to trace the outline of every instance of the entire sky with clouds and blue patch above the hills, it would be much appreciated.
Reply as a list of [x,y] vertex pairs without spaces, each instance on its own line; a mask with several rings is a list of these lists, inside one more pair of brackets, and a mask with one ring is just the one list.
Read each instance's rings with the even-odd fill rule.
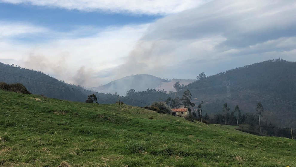
[[296,61],[294,0],[0,0],[0,62],[94,87]]

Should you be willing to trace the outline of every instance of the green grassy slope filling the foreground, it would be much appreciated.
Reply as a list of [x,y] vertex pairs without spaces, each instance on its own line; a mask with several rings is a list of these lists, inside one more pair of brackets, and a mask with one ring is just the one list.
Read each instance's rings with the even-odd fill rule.
[[[41,101],[36,101],[39,98]],[[37,99],[38,100],[38,99]],[[148,119],[153,116],[153,119]],[[0,90],[0,166],[295,166],[296,141]]]

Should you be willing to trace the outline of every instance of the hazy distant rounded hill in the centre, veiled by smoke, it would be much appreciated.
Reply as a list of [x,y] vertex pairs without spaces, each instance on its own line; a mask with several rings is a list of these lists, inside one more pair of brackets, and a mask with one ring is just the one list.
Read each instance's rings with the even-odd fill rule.
[[155,77],[148,74],[137,74],[131,75],[118,80],[112,81],[106,85],[94,87],[99,92],[112,93],[117,92],[119,95],[126,95],[126,92],[130,89],[135,89],[136,91],[144,91],[147,89],[157,89],[164,83],[170,81]]

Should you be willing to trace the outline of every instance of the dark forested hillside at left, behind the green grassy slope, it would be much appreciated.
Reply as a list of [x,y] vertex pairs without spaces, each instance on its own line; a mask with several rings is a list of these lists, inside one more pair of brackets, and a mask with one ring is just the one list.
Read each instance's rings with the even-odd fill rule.
[[[87,92],[86,89],[81,86],[67,84],[64,81],[59,81],[41,71],[25,69],[3,63],[0,63],[0,71],[2,71],[0,72],[0,82],[6,82],[8,84],[21,83],[33,94],[80,102],[84,102],[87,99],[87,96],[92,94],[92,92]],[[95,94],[98,97],[99,103],[115,103],[118,98],[111,94]],[[122,101],[124,101],[124,99]],[[129,101],[124,102],[129,103]]]

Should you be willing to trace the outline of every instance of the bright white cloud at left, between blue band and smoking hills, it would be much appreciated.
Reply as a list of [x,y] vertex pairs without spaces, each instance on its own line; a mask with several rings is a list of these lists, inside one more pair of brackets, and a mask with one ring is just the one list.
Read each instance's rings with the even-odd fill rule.
[[[9,27],[10,24],[3,25]],[[19,33],[7,33],[0,41],[0,59],[3,63],[6,63],[5,59],[10,63],[13,58],[16,60],[14,64],[45,72],[68,83],[98,86],[109,82],[111,78],[98,78],[97,73],[122,64],[123,58],[141,38],[147,26],[148,24],[127,25],[105,29],[77,27],[67,33],[49,30],[40,40],[47,36],[57,37],[40,43],[19,42],[12,38]],[[19,27],[25,25],[11,26],[10,31],[18,32]],[[34,26],[30,28],[37,29]],[[27,29],[22,31],[23,35],[34,32],[25,30]],[[83,32],[93,34],[78,38],[77,34]]]

